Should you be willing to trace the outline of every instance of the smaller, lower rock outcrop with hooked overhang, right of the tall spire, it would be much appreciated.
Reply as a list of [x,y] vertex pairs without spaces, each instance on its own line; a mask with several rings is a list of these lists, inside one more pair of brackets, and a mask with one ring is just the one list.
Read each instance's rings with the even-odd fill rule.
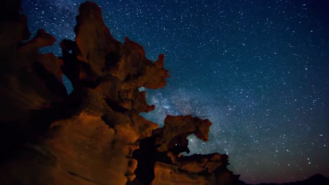
[[149,138],[141,140],[133,153],[138,161],[136,180],[144,184],[236,184],[239,175],[228,171],[228,156],[219,153],[207,155],[189,152],[187,136],[195,134],[208,140],[211,123],[192,116],[170,116],[164,127],[154,130]]

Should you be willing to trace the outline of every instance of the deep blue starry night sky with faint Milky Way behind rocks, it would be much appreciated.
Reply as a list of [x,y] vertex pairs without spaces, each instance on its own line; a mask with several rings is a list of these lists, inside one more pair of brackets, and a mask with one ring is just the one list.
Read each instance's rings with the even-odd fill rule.
[[[74,39],[78,0],[23,0],[30,32]],[[329,5],[326,0],[95,1],[110,32],[164,53],[167,86],[147,90],[166,114],[210,119],[191,153],[228,153],[248,183],[329,176]],[[64,80],[68,91],[72,87]],[[190,153],[190,154],[191,154]]]

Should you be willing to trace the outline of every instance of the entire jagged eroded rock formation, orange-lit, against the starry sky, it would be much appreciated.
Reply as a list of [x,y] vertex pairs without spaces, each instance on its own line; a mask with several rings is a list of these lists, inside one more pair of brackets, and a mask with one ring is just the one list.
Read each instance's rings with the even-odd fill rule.
[[0,23],[1,184],[237,182],[226,155],[180,154],[186,136],[208,140],[210,121],[167,116],[157,129],[139,115],[155,107],[138,88],[162,88],[169,77],[163,55],[152,62],[136,42],[115,40],[91,2],[80,6],[75,40],[60,42],[62,57],[40,54],[55,38],[40,29],[27,40],[19,3],[5,1]]

